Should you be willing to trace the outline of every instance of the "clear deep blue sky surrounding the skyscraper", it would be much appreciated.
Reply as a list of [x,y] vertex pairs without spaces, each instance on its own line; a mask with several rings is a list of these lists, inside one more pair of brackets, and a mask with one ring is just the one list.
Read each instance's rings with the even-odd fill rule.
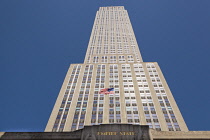
[[189,129],[210,131],[210,0],[1,0],[0,131],[44,131],[100,6],[125,6]]

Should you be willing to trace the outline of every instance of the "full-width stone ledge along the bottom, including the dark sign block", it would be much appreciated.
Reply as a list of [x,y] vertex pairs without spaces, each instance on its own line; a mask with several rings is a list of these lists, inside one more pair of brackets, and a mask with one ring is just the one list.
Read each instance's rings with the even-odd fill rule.
[[101,124],[73,132],[1,132],[0,140],[200,140],[210,131],[156,131],[147,125]]

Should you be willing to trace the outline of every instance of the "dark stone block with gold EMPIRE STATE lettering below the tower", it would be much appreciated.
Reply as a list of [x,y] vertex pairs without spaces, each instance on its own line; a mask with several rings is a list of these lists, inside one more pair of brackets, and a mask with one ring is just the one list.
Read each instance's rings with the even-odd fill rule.
[[82,140],[149,140],[149,127],[147,125],[132,124],[101,124],[85,126]]

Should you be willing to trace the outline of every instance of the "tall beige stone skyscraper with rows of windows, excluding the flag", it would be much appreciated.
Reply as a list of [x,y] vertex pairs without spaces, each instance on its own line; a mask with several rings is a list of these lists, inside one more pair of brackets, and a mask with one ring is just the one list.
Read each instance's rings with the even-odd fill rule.
[[84,63],[70,65],[45,131],[111,123],[188,131],[157,62],[143,62],[123,6],[97,11]]

